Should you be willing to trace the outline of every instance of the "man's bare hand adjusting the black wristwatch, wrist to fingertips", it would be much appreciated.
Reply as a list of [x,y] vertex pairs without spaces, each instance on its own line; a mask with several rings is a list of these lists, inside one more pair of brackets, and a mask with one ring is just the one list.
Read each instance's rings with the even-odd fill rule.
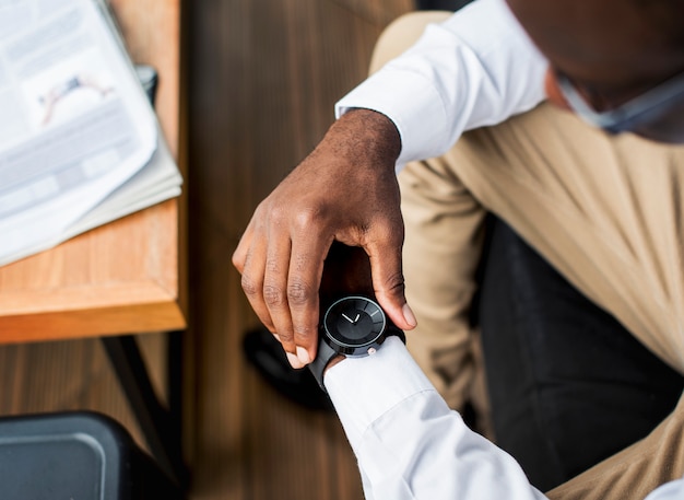
[[346,113],[257,207],[233,254],[249,303],[294,368],[316,357],[319,288],[333,242],[363,248],[380,306],[399,328],[415,326],[401,268],[400,149],[387,117]]

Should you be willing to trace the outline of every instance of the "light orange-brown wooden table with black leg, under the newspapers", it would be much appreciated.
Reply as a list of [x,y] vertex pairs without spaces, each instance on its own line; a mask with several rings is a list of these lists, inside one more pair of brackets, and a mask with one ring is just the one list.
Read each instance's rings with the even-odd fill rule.
[[[111,7],[133,61],[158,71],[156,109],[182,171],[180,0],[111,0]],[[176,451],[160,434],[164,408],[149,400],[154,393],[130,335],[186,327],[184,202],[160,204],[0,267],[0,342],[106,339],[149,444],[167,469],[178,457],[169,458]]]

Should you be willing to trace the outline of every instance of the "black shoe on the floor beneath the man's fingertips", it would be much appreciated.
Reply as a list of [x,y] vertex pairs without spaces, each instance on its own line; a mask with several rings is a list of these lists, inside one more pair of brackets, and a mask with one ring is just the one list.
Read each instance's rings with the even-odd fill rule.
[[309,409],[332,411],[332,402],[311,372],[293,369],[282,346],[266,328],[248,332],[243,339],[245,356],[261,376],[287,399]]

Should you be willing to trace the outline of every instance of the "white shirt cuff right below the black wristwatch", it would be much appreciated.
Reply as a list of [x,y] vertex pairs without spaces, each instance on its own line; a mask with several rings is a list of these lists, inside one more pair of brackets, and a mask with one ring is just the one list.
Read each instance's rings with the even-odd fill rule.
[[375,354],[339,362],[326,372],[323,383],[355,452],[366,429],[396,405],[417,393],[436,392],[396,336]]

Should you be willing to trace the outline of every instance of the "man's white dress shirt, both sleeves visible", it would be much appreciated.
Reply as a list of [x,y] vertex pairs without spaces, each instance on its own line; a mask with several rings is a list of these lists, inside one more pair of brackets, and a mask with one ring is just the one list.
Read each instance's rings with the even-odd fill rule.
[[[401,135],[399,170],[446,152],[464,130],[534,107],[544,98],[546,66],[504,0],[477,0],[431,25],[335,114],[362,107],[388,116]],[[510,455],[447,407],[398,338],[374,356],[338,363],[325,384],[368,500],[545,498]],[[682,480],[648,500],[674,498],[684,498]]]

